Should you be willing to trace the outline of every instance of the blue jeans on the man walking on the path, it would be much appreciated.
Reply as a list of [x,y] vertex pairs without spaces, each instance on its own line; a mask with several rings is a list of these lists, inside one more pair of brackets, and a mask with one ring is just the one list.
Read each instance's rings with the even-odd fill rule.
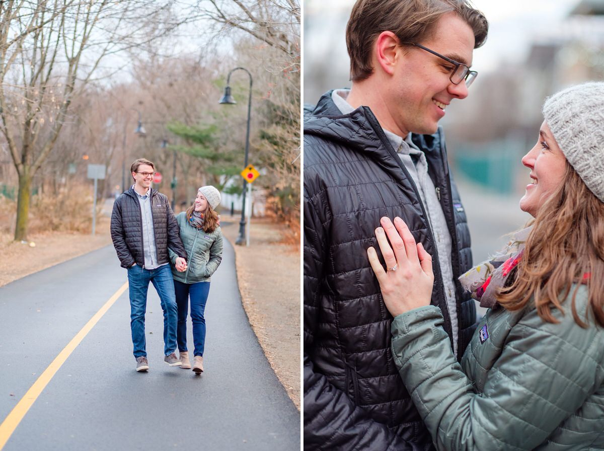
[[147,310],[147,290],[153,284],[164,310],[164,354],[169,356],[176,350],[176,321],[178,310],[174,294],[174,279],[169,264],[156,269],[144,269],[138,264],[128,268],[128,288],[130,292],[130,328],[134,357],[147,356],[145,350],[145,312]]

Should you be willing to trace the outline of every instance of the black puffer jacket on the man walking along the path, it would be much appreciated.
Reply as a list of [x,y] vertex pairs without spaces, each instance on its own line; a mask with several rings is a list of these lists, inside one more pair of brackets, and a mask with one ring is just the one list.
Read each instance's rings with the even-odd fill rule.
[[[149,188],[149,190],[157,262],[159,264],[170,263],[169,247],[179,257],[186,259],[187,252],[182,245],[178,223],[172,213],[168,198],[153,188]],[[122,267],[129,268],[135,262],[139,266],[144,266],[143,218],[141,204],[134,188],[124,191],[115,199],[111,214],[111,239]]]

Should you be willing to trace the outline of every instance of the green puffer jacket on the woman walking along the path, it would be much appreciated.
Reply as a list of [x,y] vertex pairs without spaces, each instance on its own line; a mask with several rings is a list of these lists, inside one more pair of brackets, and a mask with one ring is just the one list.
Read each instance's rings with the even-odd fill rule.
[[188,254],[187,270],[178,272],[174,265],[178,255],[169,249],[172,261],[174,280],[182,283],[209,282],[222,261],[222,231],[217,227],[211,233],[206,233],[190,225],[184,211],[176,215],[176,222],[181,231],[182,244]]

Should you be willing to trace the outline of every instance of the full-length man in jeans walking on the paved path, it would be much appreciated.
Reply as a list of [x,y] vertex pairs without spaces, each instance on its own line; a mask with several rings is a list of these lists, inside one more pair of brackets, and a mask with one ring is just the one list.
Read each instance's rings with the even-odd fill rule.
[[155,287],[164,310],[164,362],[180,366],[181,361],[174,353],[178,310],[168,248],[179,256],[176,258],[178,270],[186,268],[187,252],[168,198],[151,188],[155,174],[153,163],[137,159],[130,172],[134,185],[115,200],[111,239],[121,266],[128,270],[130,328],[137,371],[149,369],[145,341],[149,282]]

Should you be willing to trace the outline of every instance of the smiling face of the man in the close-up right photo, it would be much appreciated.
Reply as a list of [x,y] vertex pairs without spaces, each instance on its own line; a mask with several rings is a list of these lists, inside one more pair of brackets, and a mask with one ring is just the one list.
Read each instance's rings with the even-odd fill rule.
[[[472,64],[474,33],[455,13],[442,16],[432,36],[416,43],[467,66]],[[421,48],[399,48],[387,98],[390,115],[400,130],[434,133],[451,100],[467,97],[463,81],[454,85],[449,80],[454,69],[451,63]]]

